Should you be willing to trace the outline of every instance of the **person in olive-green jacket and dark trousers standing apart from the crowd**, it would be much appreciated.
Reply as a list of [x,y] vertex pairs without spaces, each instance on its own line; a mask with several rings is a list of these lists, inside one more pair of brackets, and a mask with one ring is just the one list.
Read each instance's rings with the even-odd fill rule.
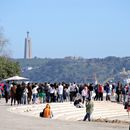
[[91,99],[87,99],[86,100],[86,115],[84,116],[84,119],[83,121],[86,121],[86,119],[88,119],[88,121],[91,121],[91,114],[93,112],[93,107],[94,107],[94,104],[93,102],[91,101]]

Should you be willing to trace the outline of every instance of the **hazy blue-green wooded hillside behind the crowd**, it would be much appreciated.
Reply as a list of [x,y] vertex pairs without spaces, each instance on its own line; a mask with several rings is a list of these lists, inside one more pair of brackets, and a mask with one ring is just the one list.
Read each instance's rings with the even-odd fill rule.
[[[83,59],[66,57],[63,59],[17,59],[22,75],[36,82],[99,82],[120,79],[123,68],[130,70],[130,57],[106,57],[103,59]],[[123,77],[124,78],[124,77]]]

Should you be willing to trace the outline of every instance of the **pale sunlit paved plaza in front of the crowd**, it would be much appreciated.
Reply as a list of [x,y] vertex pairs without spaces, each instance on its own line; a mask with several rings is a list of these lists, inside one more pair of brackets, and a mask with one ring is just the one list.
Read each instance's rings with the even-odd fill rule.
[[0,130],[129,130],[129,118],[122,104],[111,102],[94,102],[93,119],[122,120],[127,123],[83,122],[85,108],[75,108],[72,103],[51,103],[54,117],[39,117],[45,104],[10,106],[0,103]]

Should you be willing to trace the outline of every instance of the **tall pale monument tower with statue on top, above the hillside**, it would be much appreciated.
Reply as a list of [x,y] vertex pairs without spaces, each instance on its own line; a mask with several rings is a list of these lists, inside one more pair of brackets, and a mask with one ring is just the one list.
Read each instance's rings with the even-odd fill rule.
[[27,32],[27,37],[25,38],[25,48],[24,48],[24,59],[32,58],[32,42],[29,37],[29,32]]

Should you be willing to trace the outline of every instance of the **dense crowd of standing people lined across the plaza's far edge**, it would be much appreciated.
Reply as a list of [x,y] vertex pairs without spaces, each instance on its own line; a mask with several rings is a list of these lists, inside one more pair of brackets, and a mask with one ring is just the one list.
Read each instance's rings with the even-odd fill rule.
[[97,101],[110,101],[115,96],[117,102],[127,102],[130,96],[130,84],[121,82],[102,84],[76,84],[69,83],[15,83],[0,84],[0,98],[5,97],[6,103],[11,99],[11,105],[38,104],[50,102],[74,102],[80,97],[84,104],[86,98]]

